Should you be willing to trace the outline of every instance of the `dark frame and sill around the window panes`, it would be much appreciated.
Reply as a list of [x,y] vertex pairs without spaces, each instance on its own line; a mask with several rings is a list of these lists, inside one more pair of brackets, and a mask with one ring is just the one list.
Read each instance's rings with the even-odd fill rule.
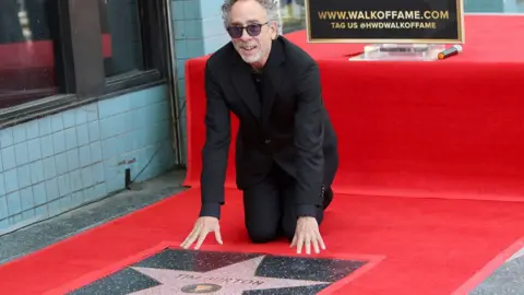
[[[59,93],[0,109],[0,129],[167,82],[166,1],[136,0],[144,66],[117,76],[104,70],[99,1],[57,0],[59,37],[53,42]],[[74,32],[74,34],[72,33]]]

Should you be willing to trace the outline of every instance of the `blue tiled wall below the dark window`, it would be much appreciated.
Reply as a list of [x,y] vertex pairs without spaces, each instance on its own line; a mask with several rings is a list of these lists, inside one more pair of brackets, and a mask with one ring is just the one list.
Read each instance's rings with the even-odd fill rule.
[[157,86],[0,130],[0,233],[171,168],[169,110]]

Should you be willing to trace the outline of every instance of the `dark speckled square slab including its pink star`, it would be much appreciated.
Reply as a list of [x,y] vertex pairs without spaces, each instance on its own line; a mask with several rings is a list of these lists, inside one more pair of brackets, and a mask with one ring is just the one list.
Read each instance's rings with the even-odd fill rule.
[[[178,246],[178,244],[177,244]],[[92,294],[272,294],[313,295],[370,263],[361,259],[305,258],[267,253],[195,251],[157,247],[151,256],[69,295]],[[369,264],[368,264],[369,266]],[[117,266],[115,266],[117,268]],[[60,293],[60,294],[66,294]]]

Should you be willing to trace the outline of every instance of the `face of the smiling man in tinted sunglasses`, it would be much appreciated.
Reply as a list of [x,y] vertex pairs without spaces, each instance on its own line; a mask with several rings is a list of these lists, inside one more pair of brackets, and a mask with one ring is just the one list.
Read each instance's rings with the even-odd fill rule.
[[276,23],[267,23],[267,12],[259,2],[239,0],[229,13],[229,26],[249,25],[251,26],[241,31],[240,36],[231,36],[231,40],[243,61],[254,68],[262,68],[270,55],[272,40],[276,38]]

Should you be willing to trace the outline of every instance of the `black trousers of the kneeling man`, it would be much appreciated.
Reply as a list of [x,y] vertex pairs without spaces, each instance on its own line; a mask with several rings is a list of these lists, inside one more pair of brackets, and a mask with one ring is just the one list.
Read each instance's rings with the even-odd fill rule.
[[[243,190],[245,222],[253,243],[267,243],[279,237],[293,239],[298,219],[295,187],[296,180],[275,164],[265,180]],[[326,191],[332,193],[331,189]],[[317,209],[319,225],[325,206]]]

